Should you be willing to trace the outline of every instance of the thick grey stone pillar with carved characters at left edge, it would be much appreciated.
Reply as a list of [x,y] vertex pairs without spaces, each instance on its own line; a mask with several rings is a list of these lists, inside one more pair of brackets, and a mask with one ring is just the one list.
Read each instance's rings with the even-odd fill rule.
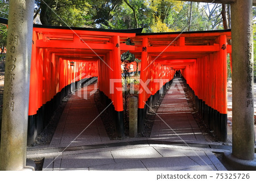
[[26,167],[34,0],[10,0],[0,170]]

